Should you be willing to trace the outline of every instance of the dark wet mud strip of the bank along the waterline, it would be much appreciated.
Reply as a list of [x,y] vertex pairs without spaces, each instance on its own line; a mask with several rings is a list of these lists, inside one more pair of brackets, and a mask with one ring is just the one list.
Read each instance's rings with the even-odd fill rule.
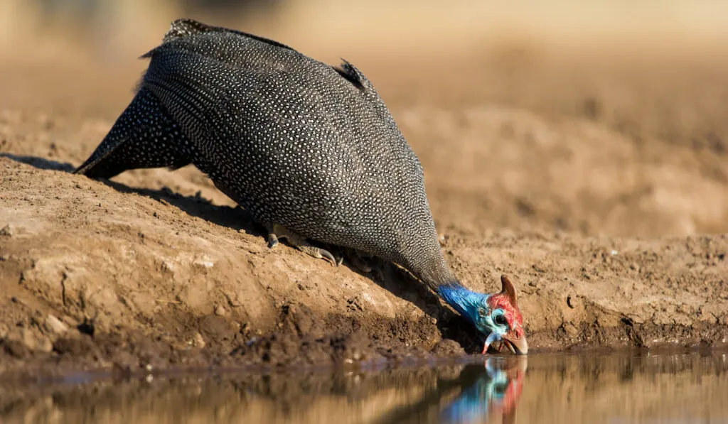
[[[38,380],[94,370],[130,377],[164,370],[387,368],[484,359],[470,324],[454,313],[444,315],[438,322],[429,317],[415,322],[322,317],[306,305],[288,303],[280,307],[274,330],[269,332],[240,327],[234,319],[215,314],[178,314],[176,337],[164,331],[96,332],[92,321],[84,321],[55,337],[48,351],[1,339],[0,380]],[[635,324],[626,319],[620,327],[604,328],[596,322],[582,324],[577,335],[566,335],[560,328],[535,332],[529,338],[542,346],[531,355],[728,350],[723,327]]]

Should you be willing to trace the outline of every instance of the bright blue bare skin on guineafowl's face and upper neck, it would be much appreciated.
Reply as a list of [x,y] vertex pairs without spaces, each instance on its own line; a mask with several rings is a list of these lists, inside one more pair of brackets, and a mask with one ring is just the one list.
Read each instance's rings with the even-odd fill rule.
[[442,297],[462,316],[469,319],[475,328],[486,336],[486,347],[501,340],[508,332],[508,322],[502,309],[491,311],[488,298],[491,295],[472,292],[461,285],[442,286],[438,289]]

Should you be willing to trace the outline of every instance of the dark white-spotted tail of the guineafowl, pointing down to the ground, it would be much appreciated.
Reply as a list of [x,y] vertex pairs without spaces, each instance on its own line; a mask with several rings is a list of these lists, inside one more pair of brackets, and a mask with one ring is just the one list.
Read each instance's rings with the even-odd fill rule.
[[191,163],[189,139],[154,94],[142,87],[114,127],[74,174],[111,178],[129,169]]

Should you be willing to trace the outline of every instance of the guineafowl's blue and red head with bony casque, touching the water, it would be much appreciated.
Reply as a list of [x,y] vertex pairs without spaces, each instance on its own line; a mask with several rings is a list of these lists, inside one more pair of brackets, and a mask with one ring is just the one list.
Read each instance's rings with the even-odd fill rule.
[[525,355],[529,344],[523,331],[523,316],[516,302],[515,287],[505,275],[501,276],[501,284],[501,292],[492,295],[472,292],[459,283],[444,285],[438,292],[483,334],[483,353],[488,346],[500,342],[499,350],[505,345],[511,352]]

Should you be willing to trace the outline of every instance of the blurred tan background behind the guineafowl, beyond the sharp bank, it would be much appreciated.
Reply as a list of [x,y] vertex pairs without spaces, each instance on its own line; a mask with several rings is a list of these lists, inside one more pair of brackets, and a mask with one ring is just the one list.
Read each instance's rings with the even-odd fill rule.
[[721,1],[0,0],[0,150],[80,164],[177,17],[361,68],[440,228],[728,231]]

